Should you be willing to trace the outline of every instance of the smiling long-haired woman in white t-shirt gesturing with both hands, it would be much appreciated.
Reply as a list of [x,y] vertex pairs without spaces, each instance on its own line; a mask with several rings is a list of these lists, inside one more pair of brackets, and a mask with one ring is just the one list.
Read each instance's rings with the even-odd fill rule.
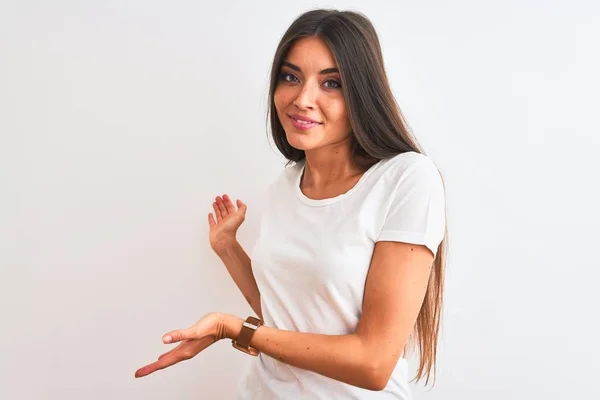
[[208,217],[210,244],[256,316],[211,313],[166,334],[180,344],[136,377],[228,338],[258,356],[241,399],[409,399],[409,344],[417,379],[435,365],[444,186],[408,133],[368,19],[301,15],[277,48],[269,99],[291,166],[268,189],[252,260],[236,241],[243,202],[218,196]]

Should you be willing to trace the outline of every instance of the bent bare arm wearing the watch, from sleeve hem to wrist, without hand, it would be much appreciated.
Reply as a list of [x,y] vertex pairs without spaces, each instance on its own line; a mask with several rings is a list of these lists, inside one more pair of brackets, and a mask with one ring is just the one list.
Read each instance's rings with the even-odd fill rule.
[[[363,311],[353,334],[323,335],[261,326],[250,345],[279,361],[370,390],[382,390],[415,325],[433,254],[427,247],[378,242],[366,280]],[[226,335],[243,320],[229,316]]]

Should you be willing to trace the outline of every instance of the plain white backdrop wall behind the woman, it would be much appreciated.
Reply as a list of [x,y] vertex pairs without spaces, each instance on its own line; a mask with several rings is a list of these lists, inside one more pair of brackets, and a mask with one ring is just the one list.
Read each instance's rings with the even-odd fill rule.
[[[438,377],[417,400],[600,398],[600,7],[590,1],[1,1],[0,398],[231,399],[222,341],[135,380],[163,333],[251,314],[208,245],[256,240],[283,159],[267,77],[292,20],[364,12],[446,181]],[[414,360],[411,362],[414,370]]]

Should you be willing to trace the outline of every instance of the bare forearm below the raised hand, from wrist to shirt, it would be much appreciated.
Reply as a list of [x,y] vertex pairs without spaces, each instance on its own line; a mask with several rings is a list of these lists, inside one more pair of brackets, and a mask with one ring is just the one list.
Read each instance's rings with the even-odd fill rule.
[[260,292],[252,273],[252,261],[242,245],[237,240],[233,240],[222,245],[220,250],[215,252],[227,267],[229,275],[231,275],[252,310],[262,319]]

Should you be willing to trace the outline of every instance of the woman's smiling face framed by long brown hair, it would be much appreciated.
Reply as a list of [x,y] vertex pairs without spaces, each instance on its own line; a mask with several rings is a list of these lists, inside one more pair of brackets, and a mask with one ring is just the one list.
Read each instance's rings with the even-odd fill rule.
[[340,74],[321,39],[296,42],[279,72],[274,103],[290,145],[306,151],[350,136]]

